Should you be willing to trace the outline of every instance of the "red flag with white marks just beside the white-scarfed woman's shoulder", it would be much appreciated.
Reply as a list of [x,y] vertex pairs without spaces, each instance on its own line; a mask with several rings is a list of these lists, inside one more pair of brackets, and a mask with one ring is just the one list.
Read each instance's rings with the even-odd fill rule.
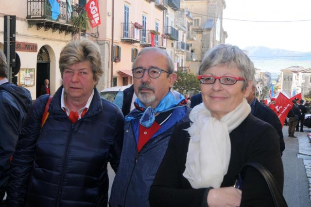
[[282,128],[287,117],[288,112],[293,108],[293,102],[284,96],[282,93],[276,98],[276,110],[278,111],[278,119],[282,124]]

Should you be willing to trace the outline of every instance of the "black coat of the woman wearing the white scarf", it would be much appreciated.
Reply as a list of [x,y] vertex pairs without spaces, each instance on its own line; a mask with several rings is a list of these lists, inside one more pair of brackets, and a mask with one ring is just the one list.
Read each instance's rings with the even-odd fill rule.
[[[207,206],[207,189],[193,189],[182,175],[185,171],[190,135],[184,130],[185,122],[175,127],[166,154],[150,189],[151,207],[203,207]],[[207,135],[208,136],[208,135]],[[221,187],[233,186],[243,164],[258,162],[275,177],[283,191],[283,164],[276,130],[266,122],[249,114],[230,134],[231,156],[227,174]],[[254,169],[244,177],[241,207],[274,207],[264,178]]]

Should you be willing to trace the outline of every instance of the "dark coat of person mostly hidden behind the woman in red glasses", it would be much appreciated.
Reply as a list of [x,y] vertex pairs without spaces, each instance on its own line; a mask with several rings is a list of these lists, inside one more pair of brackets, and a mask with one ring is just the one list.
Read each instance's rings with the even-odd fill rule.
[[280,138],[280,150],[281,154],[285,149],[284,137],[282,132],[282,124],[279,118],[276,116],[276,113],[272,111],[268,106],[260,103],[257,98],[255,98],[255,104],[252,106],[252,114],[257,118],[261,119],[272,125],[277,131],[277,134]]

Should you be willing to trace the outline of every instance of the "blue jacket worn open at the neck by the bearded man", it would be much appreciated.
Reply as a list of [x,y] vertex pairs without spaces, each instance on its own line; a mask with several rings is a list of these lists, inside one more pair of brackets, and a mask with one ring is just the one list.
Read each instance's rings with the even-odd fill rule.
[[134,135],[138,135],[139,120],[133,119],[125,123],[123,149],[118,173],[111,189],[110,207],[149,207],[150,187],[173,129],[177,123],[189,121],[189,113],[190,108],[186,106],[174,109],[170,118],[161,125],[139,153],[136,141],[138,139]]

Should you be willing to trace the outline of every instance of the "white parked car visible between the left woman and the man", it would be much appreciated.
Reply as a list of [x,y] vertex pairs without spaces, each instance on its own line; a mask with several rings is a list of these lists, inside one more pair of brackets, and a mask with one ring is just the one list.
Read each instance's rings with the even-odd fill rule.
[[129,88],[132,84],[126,86],[115,86],[111,88],[106,88],[100,92],[100,95],[107,99],[108,101],[116,104],[120,109],[122,109],[123,103],[123,91]]

